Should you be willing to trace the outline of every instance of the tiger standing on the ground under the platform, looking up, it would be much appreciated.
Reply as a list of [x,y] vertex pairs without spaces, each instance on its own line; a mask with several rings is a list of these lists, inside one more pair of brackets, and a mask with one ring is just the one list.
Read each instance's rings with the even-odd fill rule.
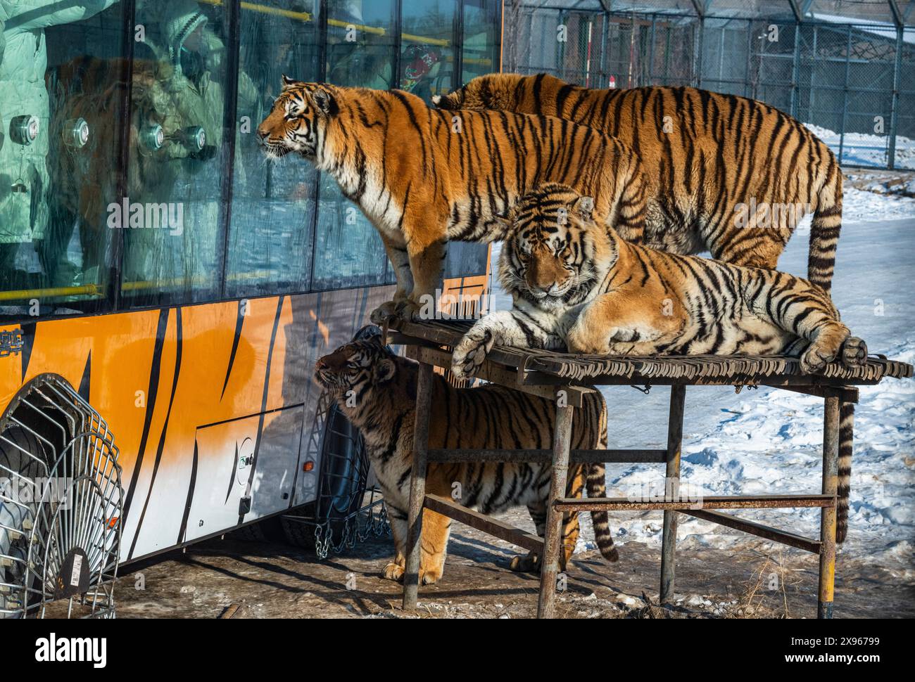
[[[361,432],[372,467],[382,487],[391,519],[396,554],[384,568],[384,577],[404,575],[407,508],[413,464],[413,433],[418,366],[393,355],[382,346],[381,336],[340,346],[315,365],[318,383],[332,391],[339,409]],[[553,445],[555,404],[501,386],[456,389],[433,375],[431,448],[549,449]],[[355,400],[350,400],[354,397]],[[576,410],[572,447],[596,450],[607,447],[607,414],[597,391],[586,396]],[[586,471],[587,469],[587,471]],[[511,506],[526,505],[544,537],[546,504],[550,492],[551,464],[436,464],[426,472],[427,493],[452,496],[460,485],[458,502],[491,514]],[[589,497],[606,496],[603,464],[573,464],[569,468],[566,496],[580,497],[587,485]],[[600,553],[618,558],[610,535],[607,512],[592,512],[594,535]],[[442,577],[451,519],[429,509],[423,511],[420,583]],[[575,550],[578,538],[576,513],[563,517],[563,551],[560,565]],[[533,553],[511,560],[512,570],[539,568]]]

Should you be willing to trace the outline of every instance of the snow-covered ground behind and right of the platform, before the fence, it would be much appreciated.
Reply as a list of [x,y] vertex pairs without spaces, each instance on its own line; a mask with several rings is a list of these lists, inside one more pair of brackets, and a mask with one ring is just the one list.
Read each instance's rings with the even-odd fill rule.
[[[847,189],[834,300],[871,353],[915,362],[915,200]],[[494,254],[495,255],[495,254]],[[780,268],[803,275],[807,238],[796,234]],[[494,282],[495,283],[495,282]],[[496,286],[493,307],[511,306]],[[669,389],[643,395],[604,390],[610,447],[663,447]],[[915,575],[915,379],[863,387],[856,410],[847,551]],[[819,492],[823,400],[774,389],[690,387],[686,391],[682,475],[705,495]],[[630,496],[662,482],[659,465],[608,465],[608,494]],[[741,517],[815,537],[819,511],[752,510]],[[661,513],[617,514],[619,542],[660,543]],[[587,526],[587,521],[583,520]],[[587,535],[587,534],[586,534]],[[765,542],[681,517],[684,545],[733,548]],[[588,543],[590,544],[590,543]]]

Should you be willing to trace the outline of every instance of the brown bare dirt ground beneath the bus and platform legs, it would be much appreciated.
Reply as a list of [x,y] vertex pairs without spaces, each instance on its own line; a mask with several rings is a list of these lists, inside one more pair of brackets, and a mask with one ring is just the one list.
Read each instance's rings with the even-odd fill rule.
[[[500,515],[518,523],[521,511]],[[522,522],[523,523],[523,522]],[[676,602],[659,607],[660,552],[630,542],[619,562],[597,550],[566,571],[557,615],[565,618],[812,618],[817,559],[764,541],[737,551],[678,551]],[[536,613],[539,579],[507,569],[517,550],[456,524],[445,575],[420,588],[417,613],[400,608],[401,586],[380,572],[390,538],[373,538],[319,560],[313,552],[231,536],[208,540],[121,571],[119,618],[527,618]],[[140,589],[142,588],[142,589]],[[898,573],[840,556],[836,618],[915,617],[915,586]],[[645,599],[649,603],[645,602]]]

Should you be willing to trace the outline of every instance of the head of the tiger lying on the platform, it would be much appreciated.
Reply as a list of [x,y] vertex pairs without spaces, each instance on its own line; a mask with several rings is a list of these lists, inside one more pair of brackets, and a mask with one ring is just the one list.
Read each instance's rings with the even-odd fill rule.
[[551,307],[575,303],[595,278],[596,244],[590,228],[594,199],[549,184],[512,208],[502,246],[500,279],[510,292]]

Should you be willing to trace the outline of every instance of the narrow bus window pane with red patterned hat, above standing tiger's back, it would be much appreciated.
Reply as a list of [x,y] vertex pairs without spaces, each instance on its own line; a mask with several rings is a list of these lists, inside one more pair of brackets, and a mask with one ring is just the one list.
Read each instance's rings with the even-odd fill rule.
[[454,89],[457,0],[404,3],[400,87],[432,103]]

